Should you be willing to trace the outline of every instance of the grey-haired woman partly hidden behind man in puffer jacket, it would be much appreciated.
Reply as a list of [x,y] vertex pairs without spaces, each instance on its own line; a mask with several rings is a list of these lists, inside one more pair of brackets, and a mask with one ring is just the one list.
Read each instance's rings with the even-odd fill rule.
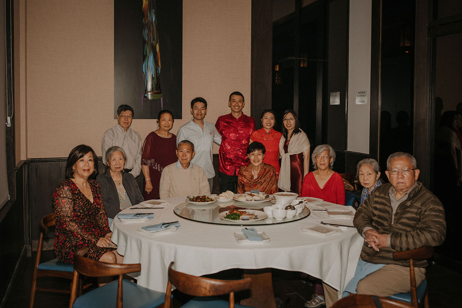
[[383,181],[379,179],[380,166],[375,159],[365,158],[356,166],[356,176],[363,187],[359,201],[359,205],[362,205],[372,191],[383,184]]

